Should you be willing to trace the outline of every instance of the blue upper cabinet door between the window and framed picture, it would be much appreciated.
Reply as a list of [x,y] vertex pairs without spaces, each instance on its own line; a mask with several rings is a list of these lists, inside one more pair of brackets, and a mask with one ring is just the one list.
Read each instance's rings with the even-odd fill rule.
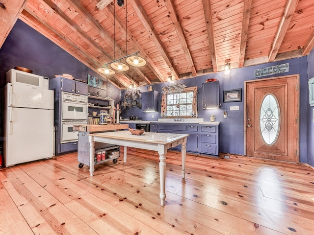
[[220,108],[219,81],[202,84],[203,109]]

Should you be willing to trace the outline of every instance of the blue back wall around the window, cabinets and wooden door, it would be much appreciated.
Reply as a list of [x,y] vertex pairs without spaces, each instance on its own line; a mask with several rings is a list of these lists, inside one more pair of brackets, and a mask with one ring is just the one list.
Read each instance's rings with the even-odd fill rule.
[[[244,155],[244,81],[254,80],[254,70],[269,66],[289,63],[289,71],[286,73],[276,74],[272,76],[263,76],[260,78],[277,77],[290,74],[300,74],[300,162],[307,162],[307,107],[308,107],[308,75],[307,75],[307,57],[300,57],[280,62],[267,63],[258,66],[234,69],[230,71],[217,72],[210,75],[198,76],[195,78],[182,79],[180,81],[172,81],[162,84],[153,85],[153,89],[162,91],[162,87],[174,84],[185,84],[187,87],[197,86],[199,94],[198,100],[198,118],[204,118],[209,121],[210,115],[215,115],[216,121],[220,121],[220,151],[224,153],[233,153]],[[220,109],[203,110],[202,109],[202,83],[208,78],[216,78],[220,83]],[[223,91],[242,89],[242,101],[224,103]],[[147,86],[137,88],[141,92],[147,91]],[[123,100],[124,93],[122,92]],[[239,106],[239,111],[230,111],[230,106]],[[223,112],[227,111],[227,118],[223,118]],[[154,114],[154,118],[152,118]],[[144,113],[138,108],[127,108],[122,110],[122,115],[126,118],[134,115],[142,120],[157,120],[160,118],[160,107],[158,113]]]

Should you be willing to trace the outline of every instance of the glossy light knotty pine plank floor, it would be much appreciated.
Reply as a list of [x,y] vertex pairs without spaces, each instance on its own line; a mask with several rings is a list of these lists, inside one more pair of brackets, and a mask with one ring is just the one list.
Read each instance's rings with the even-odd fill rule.
[[[130,150],[129,150],[130,149]],[[3,235],[313,235],[314,170],[169,151],[160,206],[156,152],[78,168],[76,153],[0,170]]]

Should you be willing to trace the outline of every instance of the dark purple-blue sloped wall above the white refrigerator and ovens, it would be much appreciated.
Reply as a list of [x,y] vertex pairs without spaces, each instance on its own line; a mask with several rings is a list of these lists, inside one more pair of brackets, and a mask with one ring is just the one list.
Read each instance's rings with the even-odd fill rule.
[[[17,66],[49,78],[62,73],[84,81],[87,81],[87,74],[101,77],[21,20],[16,22],[0,48],[0,87],[5,85],[5,72]],[[102,90],[102,95],[119,101],[120,90],[107,84],[107,92]]]

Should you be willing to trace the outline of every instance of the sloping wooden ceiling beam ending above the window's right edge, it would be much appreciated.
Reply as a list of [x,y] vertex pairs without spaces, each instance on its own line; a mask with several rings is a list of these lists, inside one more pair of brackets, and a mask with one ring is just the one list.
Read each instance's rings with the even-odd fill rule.
[[173,3],[173,0],[164,0],[164,2],[165,2],[166,7],[169,11],[170,19],[172,20],[174,27],[176,29],[176,32],[178,34],[178,38],[179,38],[179,41],[180,41],[181,46],[183,48],[183,52],[185,54],[185,57],[186,57],[186,60],[187,60],[188,66],[189,66],[189,70],[192,72],[192,75],[194,77],[196,77],[197,72],[196,72],[196,69],[194,66],[192,55],[191,55],[190,49],[187,45],[187,42],[185,40],[185,35],[183,33],[183,29],[182,29],[181,23],[179,21],[179,16],[178,16],[177,10],[175,8],[175,5]]

